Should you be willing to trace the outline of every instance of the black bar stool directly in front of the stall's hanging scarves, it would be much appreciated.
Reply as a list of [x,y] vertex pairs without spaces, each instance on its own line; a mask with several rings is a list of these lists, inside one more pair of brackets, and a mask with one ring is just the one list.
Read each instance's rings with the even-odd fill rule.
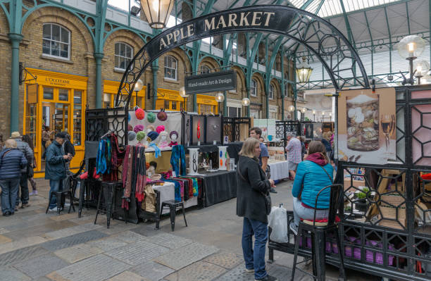
[[[96,224],[97,216],[99,212],[104,212],[106,209],[106,227],[109,228],[111,225],[111,218],[113,219],[112,213],[115,211],[115,195],[118,187],[123,187],[123,182],[101,182],[101,188],[99,191],[99,199],[97,200],[97,211],[96,218],[94,218],[94,224]],[[101,197],[104,196],[104,206],[101,206]],[[114,210],[113,210],[114,209]],[[127,214],[124,210],[124,221],[127,223]]]

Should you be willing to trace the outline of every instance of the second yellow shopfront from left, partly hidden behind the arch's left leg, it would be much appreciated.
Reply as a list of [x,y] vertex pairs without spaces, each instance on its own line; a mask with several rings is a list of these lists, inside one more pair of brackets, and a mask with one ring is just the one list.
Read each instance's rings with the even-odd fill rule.
[[[102,104],[104,108],[114,107],[118,87],[120,87],[120,82],[104,80],[104,103]],[[144,86],[139,92],[133,92],[130,98],[129,108],[134,108],[135,106],[145,108],[145,91],[146,87]],[[127,92],[123,90],[122,94],[127,94]]]

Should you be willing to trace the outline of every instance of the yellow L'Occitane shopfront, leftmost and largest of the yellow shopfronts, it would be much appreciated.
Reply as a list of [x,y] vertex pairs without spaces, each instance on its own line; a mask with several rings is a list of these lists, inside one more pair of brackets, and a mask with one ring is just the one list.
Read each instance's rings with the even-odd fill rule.
[[85,105],[87,77],[27,68],[36,80],[24,87],[23,135],[30,135],[35,146],[35,177],[44,177],[45,148],[42,131],[49,127],[50,139],[56,132],[67,131],[75,146],[70,169],[76,171],[84,157]]

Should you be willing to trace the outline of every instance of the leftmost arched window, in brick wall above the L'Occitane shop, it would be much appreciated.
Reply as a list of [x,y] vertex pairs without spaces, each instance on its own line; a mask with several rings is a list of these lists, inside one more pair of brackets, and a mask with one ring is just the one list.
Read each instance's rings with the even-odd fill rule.
[[70,58],[70,31],[55,23],[44,23],[42,54]]

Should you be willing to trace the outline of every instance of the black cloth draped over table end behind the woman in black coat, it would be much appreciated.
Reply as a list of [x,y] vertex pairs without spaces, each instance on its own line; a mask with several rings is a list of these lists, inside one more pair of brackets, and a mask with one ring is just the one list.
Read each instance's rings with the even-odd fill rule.
[[237,177],[235,171],[205,173],[204,207],[212,206],[237,196]]

